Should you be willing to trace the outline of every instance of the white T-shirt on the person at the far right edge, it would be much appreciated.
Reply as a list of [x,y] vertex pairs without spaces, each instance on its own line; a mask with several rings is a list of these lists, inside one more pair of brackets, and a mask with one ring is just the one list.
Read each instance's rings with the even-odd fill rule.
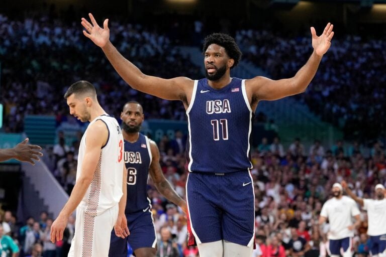
[[386,234],[386,199],[363,199],[363,209],[367,210],[368,235]]

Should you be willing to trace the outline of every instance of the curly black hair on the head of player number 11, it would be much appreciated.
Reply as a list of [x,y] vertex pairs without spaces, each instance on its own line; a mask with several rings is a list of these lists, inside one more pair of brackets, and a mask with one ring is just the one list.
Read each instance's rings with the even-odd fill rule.
[[216,44],[225,48],[227,55],[235,60],[231,69],[236,67],[241,59],[241,51],[236,41],[229,35],[224,33],[213,33],[204,39],[203,53],[207,51],[208,47],[212,44]]

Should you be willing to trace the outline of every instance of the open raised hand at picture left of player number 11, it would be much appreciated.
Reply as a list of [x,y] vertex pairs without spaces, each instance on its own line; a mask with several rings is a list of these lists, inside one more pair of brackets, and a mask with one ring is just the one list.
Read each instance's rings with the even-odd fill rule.
[[88,14],[90,17],[90,21],[92,24],[90,24],[86,19],[82,18],[81,24],[83,25],[85,31],[83,30],[83,35],[87,38],[91,39],[92,42],[94,42],[95,45],[99,47],[104,47],[107,42],[109,42],[110,38],[110,30],[108,27],[109,19],[106,19],[103,22],[103,29],[99,27],[98,23],[96,23],[94,17],[92,14]]

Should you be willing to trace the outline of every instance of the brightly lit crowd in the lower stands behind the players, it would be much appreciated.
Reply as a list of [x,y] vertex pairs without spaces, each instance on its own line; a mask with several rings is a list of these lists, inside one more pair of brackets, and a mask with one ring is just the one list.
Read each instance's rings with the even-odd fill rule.
[[[179,195],[185,197],[185,157],[179,144],[166,136],[159,142],[160,164],[166,179]],[[76,167],[76,154],[69,146],[63,146],[63,149],[66,157],[58,159],[57,167]],[[301,140],[296,139],[286,149],[279,138],[272,143],[263,139],[252,152],[252,163],[258,244],[254,256],[327,256],[328,224],[320,228],[317,220],[323,203],[331,197],[333,183],[347,181],[352,191],[362,198],[373,198],[374,186],[386,184],[385,149],[380,143],[366,153],[358,144],[345,146],[341,141],[326,147],[316,140],[306,149]],[[69,177],[73,176],[71,172],[62,174],[67,175],[64,179],[57,176],[62,182],[70,181]],[[64,186],[70,193],[69,184]],[[148,196],[158,233],[158,250],[169,245],[175,252],[170,256],[198,256],[196,247],[186,246],[186,219],[182,211],[167,202],[151,180]],[[46,212],[42,212],[39,219],[28,218],[26,223],[17,220],[9,211],[1,217],[4,232],[14,238],[25,254],[30,254],[35,247],[45,252],[44,256],[62,256],[68,250],[73,235],[72,218],[65,239],[52,244],[47,240],[47,228],[52,219]],[[353,243],[356,256],[368,255],[366,219],[366,212],[362,210],[361,225],[356,229]]]

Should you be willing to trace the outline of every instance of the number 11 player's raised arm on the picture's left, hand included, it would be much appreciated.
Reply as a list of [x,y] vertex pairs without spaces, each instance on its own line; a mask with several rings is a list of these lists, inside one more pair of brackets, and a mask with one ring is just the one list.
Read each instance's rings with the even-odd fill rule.
[[84,18],[81,22],[86,29],[83,31],[84,36],[102,48],[115,70],[131,87],[167,100],[183,100],[188,93],[186,92],[187,88],[191,88],[191,92],[194,81],[189,78],[163,79],[143,74],[133,63],[123,57],[110,42],[109,20],[106,19],[103,28],[101,28],[92,14],[88,14],[88,16],[91,23]]

